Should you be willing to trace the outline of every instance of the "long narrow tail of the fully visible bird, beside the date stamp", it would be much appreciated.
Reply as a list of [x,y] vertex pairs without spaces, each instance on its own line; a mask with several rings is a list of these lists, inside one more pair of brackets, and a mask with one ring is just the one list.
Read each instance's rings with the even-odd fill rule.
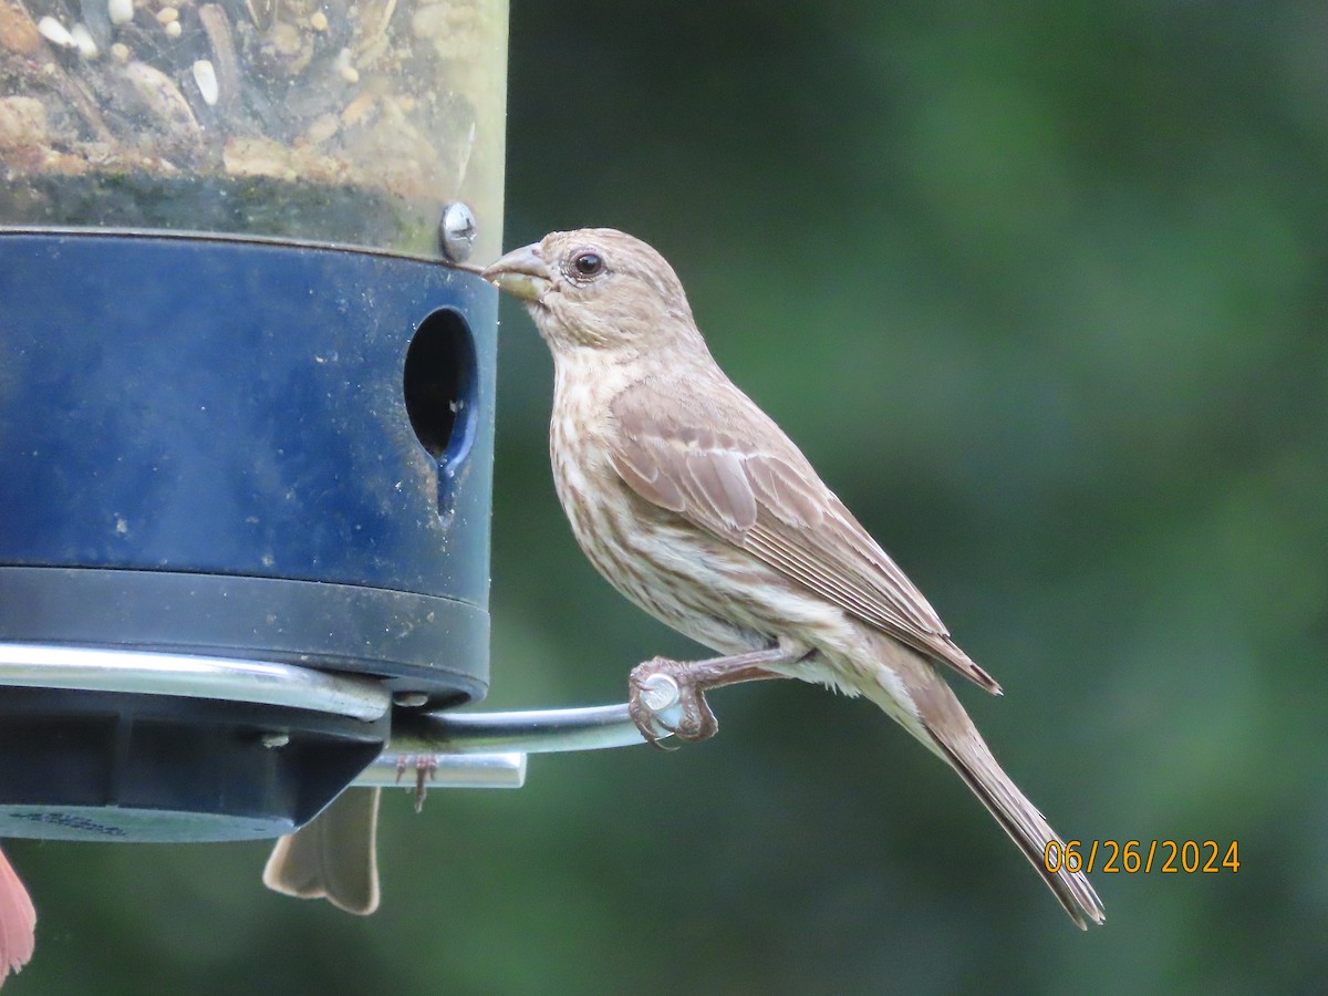
[[[1102,923],[1106,919],[1102,900],[1088,876],[1065,867],[1065,841],[996,764],[973,721],[936,668],[908,651],[906,653],[911,660],[895,673],[903,679],[918,713],[912,722],[904,725],[959,773],[1080,930],[1088,930],[1089,923]],[[888,656],[899,660],[898,651]],[[899,714],[898,706],[890,712]],[[1053,861],[1048,862],[1048,845],[1052,842],[1060,850],[1053,849]],[[1049,871],[1049,863],[1057,870]]]

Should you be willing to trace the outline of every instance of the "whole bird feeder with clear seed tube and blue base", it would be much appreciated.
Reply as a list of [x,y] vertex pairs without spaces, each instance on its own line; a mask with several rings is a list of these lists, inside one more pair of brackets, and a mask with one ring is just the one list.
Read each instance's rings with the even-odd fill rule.
[[502,0],[0,0],[0,837],[288,833],[485,695],[505,73]]

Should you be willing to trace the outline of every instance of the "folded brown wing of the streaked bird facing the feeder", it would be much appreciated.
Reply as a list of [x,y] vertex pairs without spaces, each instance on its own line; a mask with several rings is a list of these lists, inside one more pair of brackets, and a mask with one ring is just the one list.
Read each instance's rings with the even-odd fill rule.
[[728,539],[989,692],[995,679],[869,535],[784,432],[728,380],[669,377],[612,402],[610,458],[645,501]]

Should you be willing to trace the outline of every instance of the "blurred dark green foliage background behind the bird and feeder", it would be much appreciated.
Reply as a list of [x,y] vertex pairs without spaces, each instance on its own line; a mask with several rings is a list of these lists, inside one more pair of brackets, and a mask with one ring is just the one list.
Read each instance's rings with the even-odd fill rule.
[[[7,842],[41,915],[12,991],[1321,991],[1325,166],[1320,4],[515,0],[505,244],[653,243],[1003,683],[960,695],[1052,823],[1239,871],[1098,872],[1080,934],[907,734],[764,684],[673,754],[388,795],[369,919],[263,890],[262,842]],[[576,550],[550,394],[509,308],[493,708],[697,652]]]

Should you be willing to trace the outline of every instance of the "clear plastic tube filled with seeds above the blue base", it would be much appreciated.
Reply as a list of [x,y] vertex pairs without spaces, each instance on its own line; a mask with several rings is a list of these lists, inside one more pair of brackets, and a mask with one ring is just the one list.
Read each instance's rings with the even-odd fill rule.
[[502,232],[506,0],[0,0],[0,228]]

